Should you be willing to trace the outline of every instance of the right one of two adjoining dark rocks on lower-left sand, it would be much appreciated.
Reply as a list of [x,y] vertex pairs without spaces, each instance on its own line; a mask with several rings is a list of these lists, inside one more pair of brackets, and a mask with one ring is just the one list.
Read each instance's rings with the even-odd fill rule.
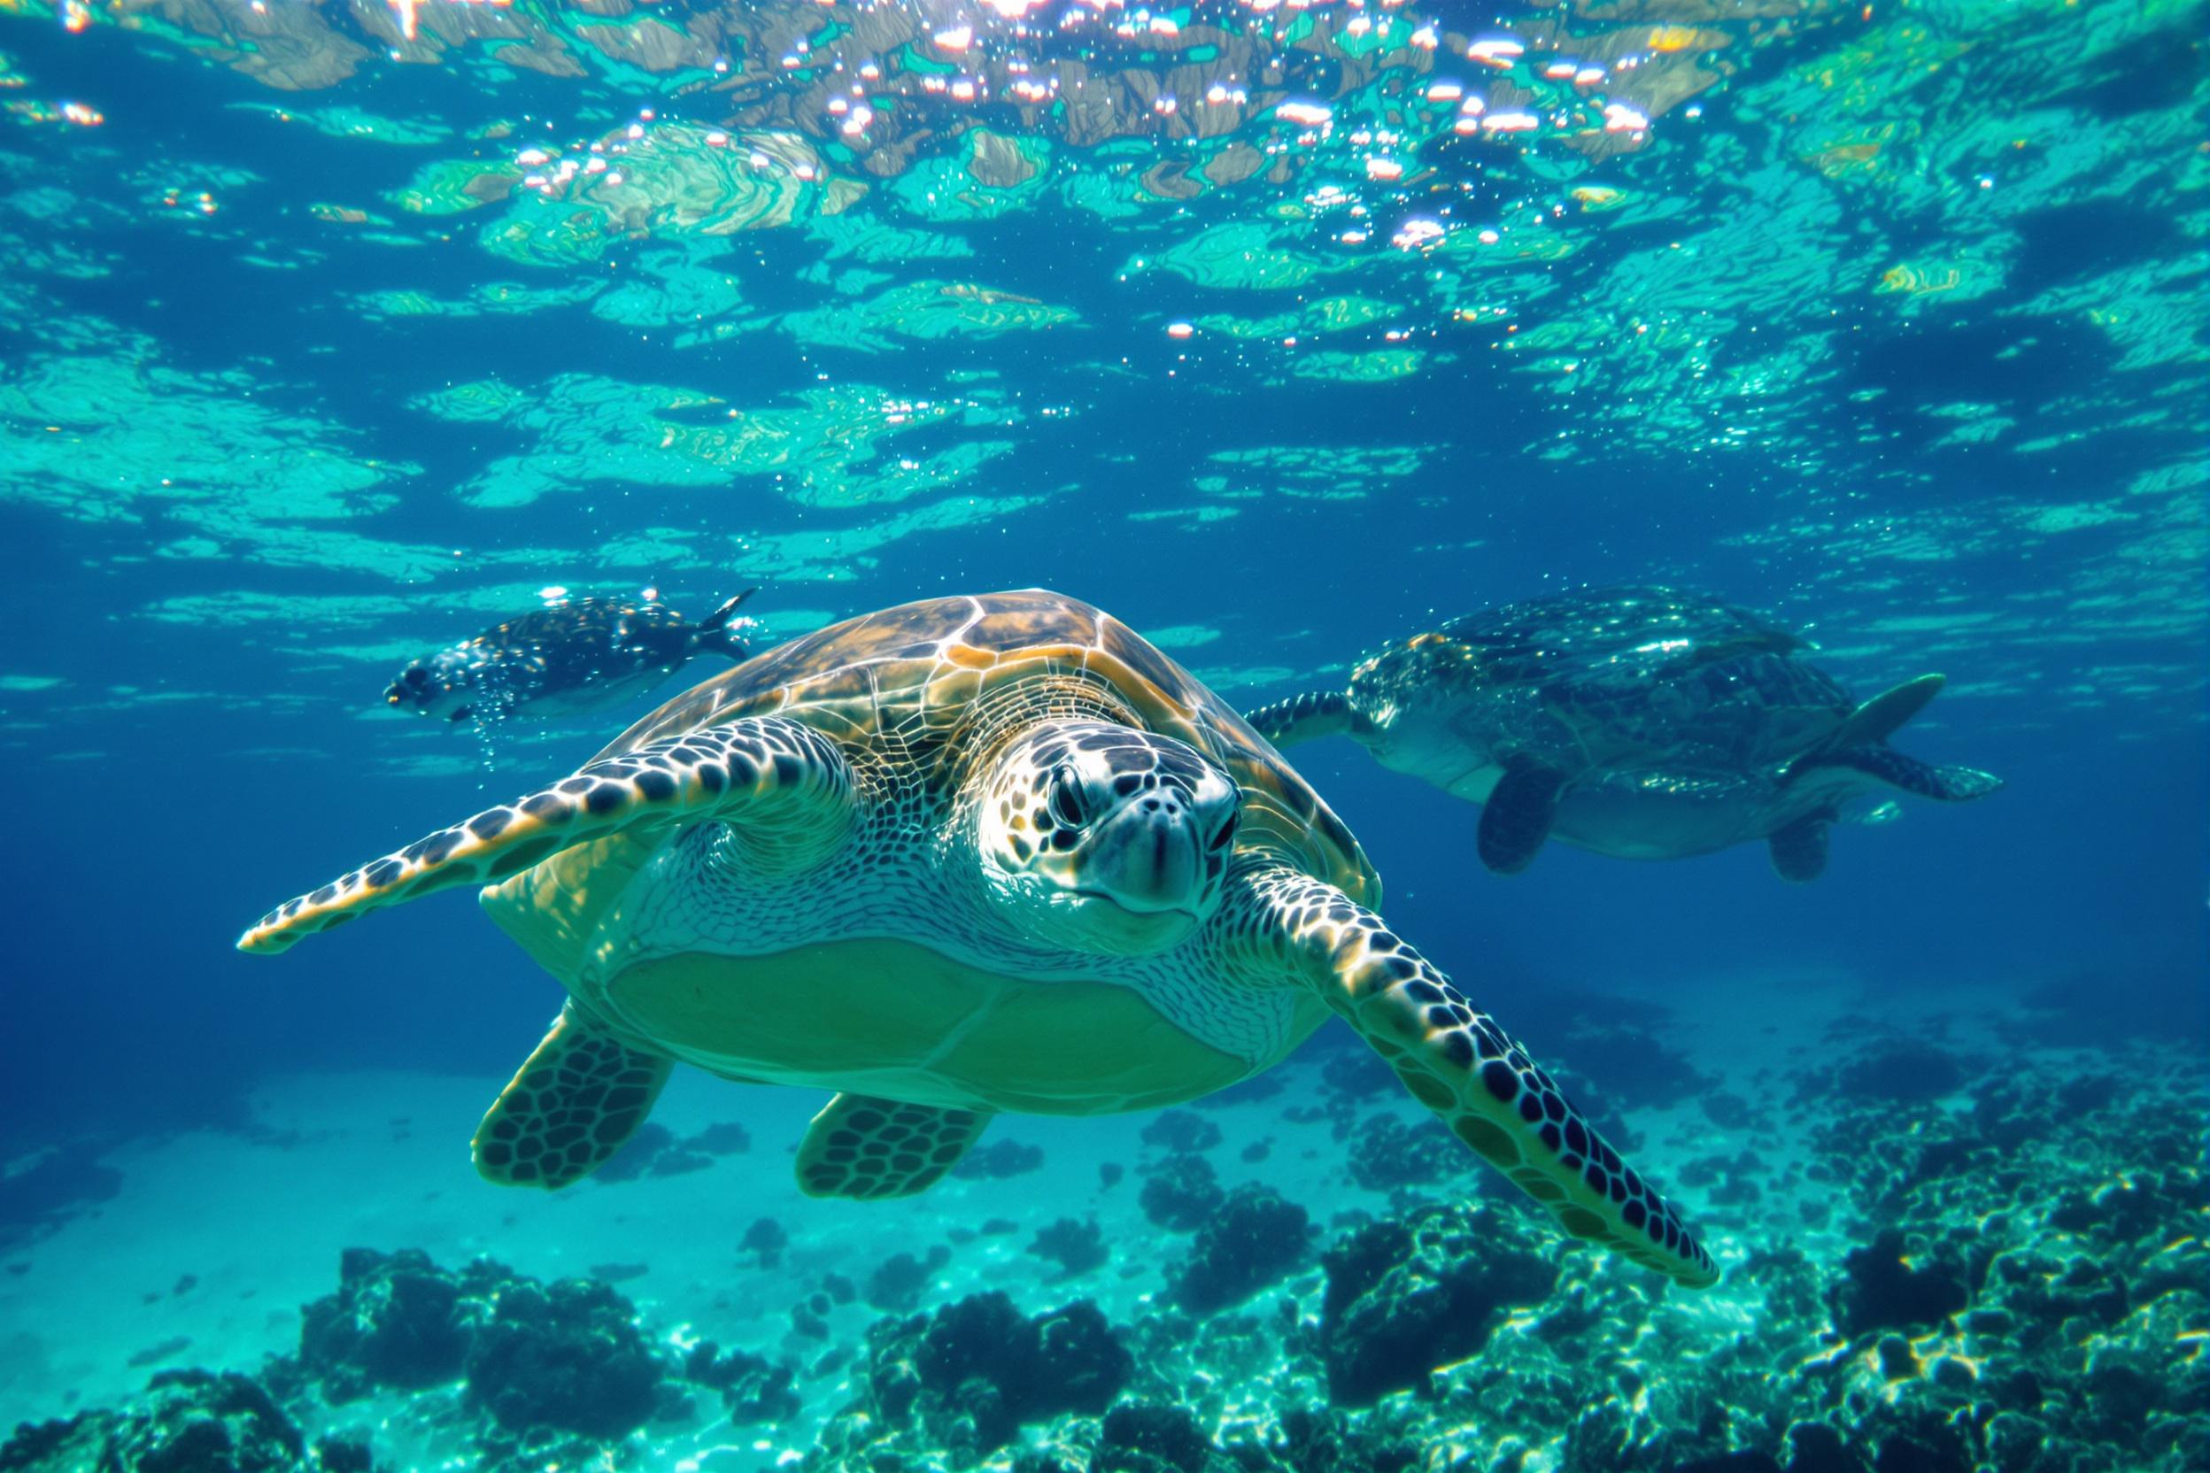
[[508,1431],[623,1438],[659,1405],[661,1360],[636,1305],[592,1279],[513,1279],[469,1349],[469,1402]]

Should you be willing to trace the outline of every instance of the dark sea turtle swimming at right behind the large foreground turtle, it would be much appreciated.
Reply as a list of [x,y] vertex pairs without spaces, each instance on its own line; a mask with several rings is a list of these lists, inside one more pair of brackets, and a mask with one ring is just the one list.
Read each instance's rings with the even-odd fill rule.
[[1781,879],[1808,881],[1828,826],[1890,791],[1965,802],[2002,786],[1887,744],[1940,676],[1859,704],[1803,649],[1706,594],[1591,587],[1452,618],[1364,658],[1348,691],[1246,720],[1280,746],[1346,733],[1478,802],[1481,861],[1503,875],[1551,835],[1622,859],[1764,839]]

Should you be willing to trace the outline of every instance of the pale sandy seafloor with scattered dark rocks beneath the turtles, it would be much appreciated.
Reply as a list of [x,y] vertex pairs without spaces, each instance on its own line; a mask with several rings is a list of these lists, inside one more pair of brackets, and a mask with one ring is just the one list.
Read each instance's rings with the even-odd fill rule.
[[[1041,1146],[1041,1164],[895,1204],[798,1195],[789,1153],[820,1104],[802,1091],[678,1071],[654,1113],[678,1144],[654,1137],[654,1157],[648,1142],[628,1179],[544,1195],[486,1186],[469,1164],[504,1080],[274,1078],[252,1128],[122,1144],[102,1159],[119,1173],[110,1197],[4,1243],[0,1427],[80,1420],[20,1427],[0,1469],[99,1466],[122,1446],[137,1466],[329,1473],[2210,1466],[2197,1040],[2150,1027],[2064,1047],[2097,1027],[2093,996],[2075,1018],[1965,989],[1918,994],[1916,1016],[1883,992],[1874,1016],[1867,996],[1837,978],[1724,978],[1587,1034],[1598,1120],[1624,1122],[1631,1159],[1728,1270],[1704,1294],[1562,1239],[1333,1027],[1275,1071],[1277,1093],[1169,1122],[1187,1148],[1158,1128],[1145,1142],[1158,1115],[1001,1117],[986,1144]],[[1571,1082],[1576,1051],[1549,1053]],[[705,1137],[714,1151],[681,1144],[729,1122],[749,1146],[732,1151],[727,1131]],[[1151,1221],[1174,1212],[1147,1215],[1145,1184],[1202,1175],[1174,1159],[1189,1155],[1220,1188],[1264,1184],[1304,1208],[1304,1246],[1280,1217],[1235,1217],[1275,1204],[1218,1206],[1189,1181],[1160,1201],[1196,1230]],[[1125,1168],[1112,1186],[1107,1164]],[[762,1217],[789,1239],[778,1254],[743,1248]],[[1065,1217],[1098,1226],[1101,1265],[1063,1272],[1032,1252]],[[1271,1241],[1253,1243],[1253,1223]],[[634,1318],[636,1345],[621,1352],[601,1321],[544,1374],[566,1378],[552,1400],[575,1411],[594,1365],[656,1360],[652,1416],[628,1433],[517,1433],[473,1360],[422,1389],[376,1385],[389,1358],[358,1334],[296,1360],[301,1310],[338,1290],[347,1248],[610,1281],[599,1314]],[[875,1281],[899,1252],[926,1268],[904,1292]],[[1189,1285],[1224,1259],[1262,1287],[1191,1310],[1204,1294]],[[464,1292],[462,1316],[513,1292],[499,1283],[475,1290],[482,1303]],[[1129,1356],[1065,1396],[1025,1385],[1034,1340],[1008,1338],[1003,1316],[944,1314],[986,1292],[1021,1316],[1092,1299]],[[869,1299],[935,1318],[899,1332]],[[373,1332],[382,1316],[389,1340],[393,1305],[365,1281],[338,1318]],[[690,1356],[701,1338],[769,1369],[725,1398]],[[190,1376],[148,1391],[190,1367],[270,1396]]]

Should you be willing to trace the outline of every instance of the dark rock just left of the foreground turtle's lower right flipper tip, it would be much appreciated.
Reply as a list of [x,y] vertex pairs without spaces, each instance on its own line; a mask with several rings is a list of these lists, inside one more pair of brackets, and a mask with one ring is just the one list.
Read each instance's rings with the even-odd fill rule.
[[1540,1303],[1558,1270],[1487,1208],[1439,1206],[1353,1230],[1322,1263],[1328,1396],[1366,1407],[1478,1352],[1503,1314]]

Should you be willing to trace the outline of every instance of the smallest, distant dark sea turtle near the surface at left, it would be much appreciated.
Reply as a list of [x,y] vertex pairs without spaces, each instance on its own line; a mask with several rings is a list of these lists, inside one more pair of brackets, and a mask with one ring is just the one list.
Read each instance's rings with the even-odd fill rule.
[[385,689],[385,704],[449,722],[486,711],[603,711],[650,691],[698,651],[743,660],[751,621],[732,616],[754,592],[696,625],[659,598],[561,598],[411,660]]

